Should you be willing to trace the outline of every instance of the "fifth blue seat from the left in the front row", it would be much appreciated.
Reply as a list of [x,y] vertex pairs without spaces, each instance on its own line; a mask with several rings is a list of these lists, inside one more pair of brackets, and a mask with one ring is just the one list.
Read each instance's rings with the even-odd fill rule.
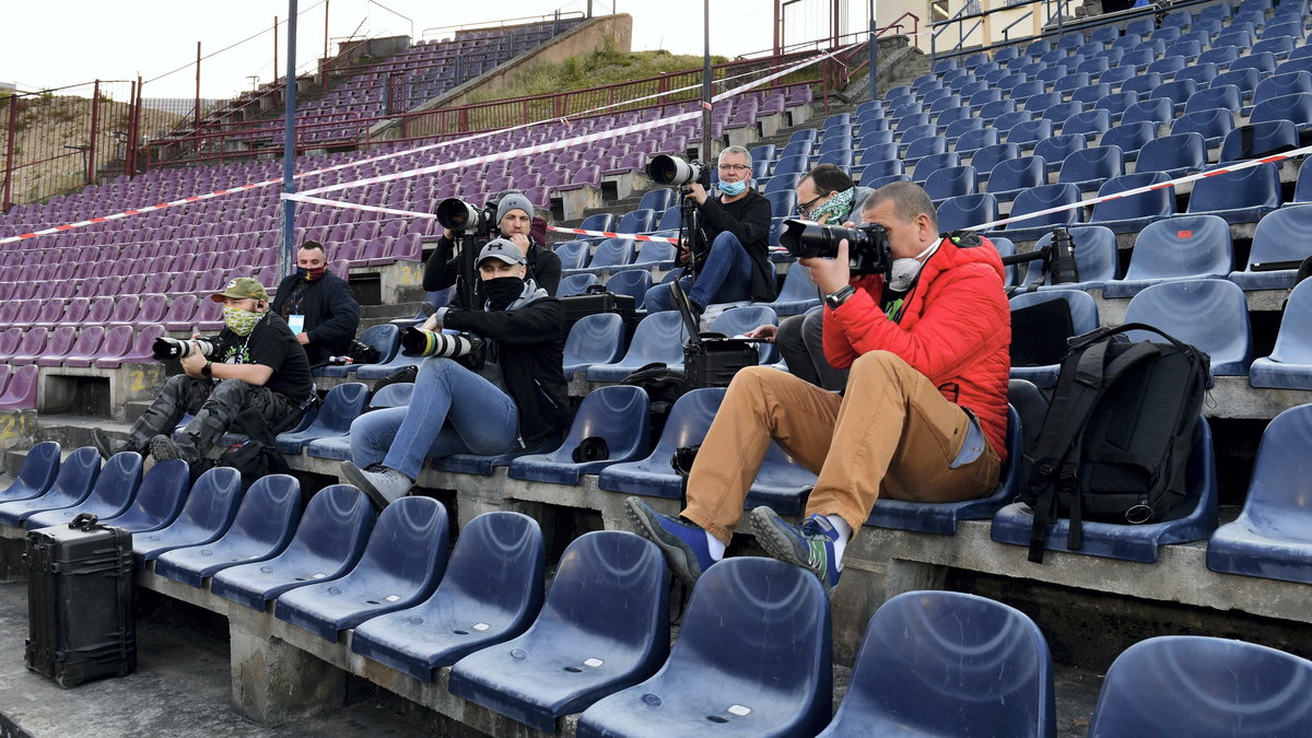
[[215,466],[201,474],[173,523],[133,537],[136,567],[144,569],[164,552],[218,540],[232,525],[240,502],[241,474],[236,469]]

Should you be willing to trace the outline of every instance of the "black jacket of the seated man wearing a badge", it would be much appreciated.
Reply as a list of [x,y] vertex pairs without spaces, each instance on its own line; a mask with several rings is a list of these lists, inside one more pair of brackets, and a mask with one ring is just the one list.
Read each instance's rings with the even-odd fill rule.
[[283,318],[306,316],[304,331],[310,336],[306,357],[311,365],[327,361],[329,356],[346,353],[359,328],[359,303],[356,302],[350,285],[332,272],[324,272],[323,277],[312,282],[295,274],[285,277],[278,284],[278,294],[274,295],[270,310]]

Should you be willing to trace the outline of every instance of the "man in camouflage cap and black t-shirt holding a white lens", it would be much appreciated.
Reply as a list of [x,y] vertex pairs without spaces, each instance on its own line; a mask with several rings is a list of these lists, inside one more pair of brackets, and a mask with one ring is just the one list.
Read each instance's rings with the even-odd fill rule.
[[[223,303],[223,331],[207,339],[155,343],[155,358],[177,358],[184,374],[164,382],[160,397],[133,423],[126,441],[112,441],[100,428],[93,429],[101,457],[133,450],[194,465],[249,408],[258,410],[274,433],[300,416],[302,403],[314,393],[310,361],[287,323],[269,310],[264,285],[240,277],[210,299]],[[186,412],[194,418],[174,441],[173,428]]]

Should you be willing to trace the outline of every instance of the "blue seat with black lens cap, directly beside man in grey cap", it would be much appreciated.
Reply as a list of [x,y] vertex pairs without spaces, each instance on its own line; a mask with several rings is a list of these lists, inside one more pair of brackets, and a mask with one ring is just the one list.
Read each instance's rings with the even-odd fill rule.
[[[647,393],[642,387],[615,385],[593,390],[579,406],[560,448],[551,453],[517,457],[510,462],[508,474],[513,479],[573,486],[584,474],[642,458],[648,452],[651,435],[647,411]],[[584,456],[584,461],[577,461],[576,456],[586,439],[605,441],[606,456],[593,461]]]

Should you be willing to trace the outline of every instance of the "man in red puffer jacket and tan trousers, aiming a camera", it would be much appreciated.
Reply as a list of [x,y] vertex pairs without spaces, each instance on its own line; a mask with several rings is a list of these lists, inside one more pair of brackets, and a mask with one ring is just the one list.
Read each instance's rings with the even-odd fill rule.
[[997,486],[1012,343],[997,250],[974,234],[939,236],[933,202],[911,183],[875,190],[862,221],[888,234],[888,274],[851,276],[846,239],[834,259],[800,260],[825,293],[825,357],[850,368],[845,394],[744,369],[702,443],[682,515],[627,502],[685,580],[723,555],[771,439],[819,479],[802,525],[758,507],[752,532],[830,590],[879,495],[943,503]]

